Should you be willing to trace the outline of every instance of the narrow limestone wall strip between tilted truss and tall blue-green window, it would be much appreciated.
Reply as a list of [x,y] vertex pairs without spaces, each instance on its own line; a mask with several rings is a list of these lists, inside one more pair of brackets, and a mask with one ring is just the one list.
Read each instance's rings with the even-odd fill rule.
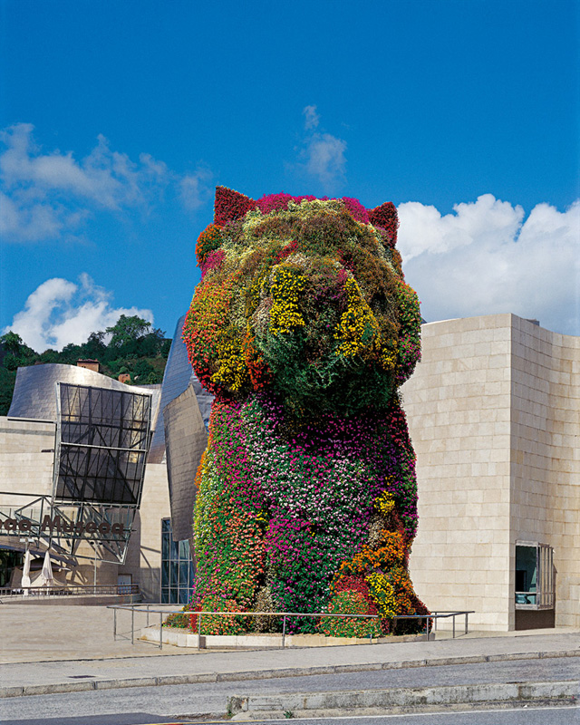
[[119,574],[131,574],[133,584],[140,585],[143,599],[149,602],[160,601],[161,519],[169,518],[169,511],[167,466],[148,463],[140,511],[133,523],[127,557],[119,567]]

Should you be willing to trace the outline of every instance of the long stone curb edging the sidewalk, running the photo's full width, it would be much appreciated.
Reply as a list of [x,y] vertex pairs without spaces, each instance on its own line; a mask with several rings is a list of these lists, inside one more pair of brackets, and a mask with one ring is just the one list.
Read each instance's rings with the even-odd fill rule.
[[156,677],[124,677],[115,679],[94,678],[74,682],[0,687],[0,698],[25,695],[48,695],[63,692],[117,690],[127,687],[153,687],[160,685],[197,684],[201,682],[233,682],[247,680],[272,680],[278,677],[303,677],[310,674],[340,674],[342,672],[376,672],[378,670],[404,670],[412,667],[440,667],[478,662],[509,662],[512,660],[538,660],[557,657],[580,657],[580,650],[556,652],[514,652],[507,654],[481,654],[466,657],[440,657],[401,662],[362,662],[360,664],[334,664],[314,667],[288,667],[279,670],[255,670],[247,672],[197,672],[195,674],[170,674]]

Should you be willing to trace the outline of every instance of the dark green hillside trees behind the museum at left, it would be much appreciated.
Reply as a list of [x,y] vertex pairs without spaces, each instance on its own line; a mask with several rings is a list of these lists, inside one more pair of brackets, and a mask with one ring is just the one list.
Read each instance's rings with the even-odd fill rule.
[[[79,360],[98,360],[102,374],[111,378],[129,372],[131,383],[136,385],[160,383],[171,346],[171,340],[166,340],[164,334],[137,315],[121,314],[116,324],[91,333],[86,343],[70,343],[60,353],[51,349],[36,353],[23,343],[20,335],[5,333],[0,337],[0,415],[7,415],[10,408],[16,370],[27,365],[76,365]],[[106,343],[109,336],[111,339]]]

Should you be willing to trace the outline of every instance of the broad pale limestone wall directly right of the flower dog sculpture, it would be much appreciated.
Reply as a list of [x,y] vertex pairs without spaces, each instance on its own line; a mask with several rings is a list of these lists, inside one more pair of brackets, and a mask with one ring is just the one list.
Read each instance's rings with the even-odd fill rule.
[[422,361],[403,386],[417,453],[417,593],[431,610],[509,618],[510,315],[423,324]]

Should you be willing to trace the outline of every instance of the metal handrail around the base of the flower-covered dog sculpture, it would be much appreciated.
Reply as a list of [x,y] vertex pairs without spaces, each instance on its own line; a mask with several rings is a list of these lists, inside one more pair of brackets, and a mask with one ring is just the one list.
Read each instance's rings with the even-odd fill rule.
[[[283,623],[282,623],[282,648],[285,647],[285,631],[286,631],[286,618],[287,617],[356,617],[358,619],[381,619],[380,614],[331,614],[328,612],[207,612],[207,611],[184,611],[183,607],[180,609],[168,609],[168,606],[171,606],[170,604],[166,604],[164,609],[152,609],[151,607],[157,607],[160,606],[159,604],[109,604],[107,606],[107,609],[113,610],[113,639],[115,642],[117,641],[117,610],[123,609],[128,612],[131,612],[131,644],[135,643],[135,612],[143,612],[147,614],[147,626],[149,627],[149,618],[150,614],[159,614],[160,615],[160,643],[159,648],[160,650],[163,649],[163,616],[168,614],[183,614],[185,616],[195,616],[198,615],[198,650],[201,650],[201,617],[204,614],[208,615],[220,615],[220,616],[281,616],[283,617]],[[161,604],[163,606],[163,604]],[[434,627],[433,631],[437,630],[437,620],[438,619],[446,619],[449,617],[453,618],[453,638],[455,639],[455,617],[459,614],[465,615],[465,633],[468,633],[468,626],[469,626],[469,614],[475,614],[475,610],[463,610],[460,612],[452,612],[452,611],[446,611],[446,612],[436,612],[432,614],[397,614],[396,616],[392,617],[391,619],[393,621],[399,620],[399,619],[419,619],[423,620],[425,619],[425,633],[427,635],[427,641],[429,641],[430,636],[430,620],[434,621]],[[369,641],[372,644],[372,634],[369,636]]]

